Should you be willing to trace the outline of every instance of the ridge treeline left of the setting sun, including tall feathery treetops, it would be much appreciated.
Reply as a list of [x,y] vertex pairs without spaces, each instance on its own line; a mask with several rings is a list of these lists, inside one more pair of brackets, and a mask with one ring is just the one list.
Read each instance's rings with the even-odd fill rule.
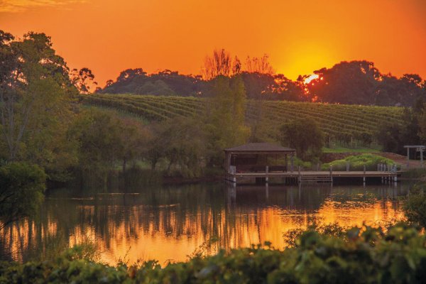
[[104,89],[97,92],[211,97],[217,77],[240,77],[249,99],[307,99],[300,82],[275,74],[268,55],[248,57],[243,64],[238,57],[233,59],[226,50],[214,50],[204,59],[202,74],[182,75],[164,70],[147,75],[141,68],[127,69],[115,82],[108,80]]

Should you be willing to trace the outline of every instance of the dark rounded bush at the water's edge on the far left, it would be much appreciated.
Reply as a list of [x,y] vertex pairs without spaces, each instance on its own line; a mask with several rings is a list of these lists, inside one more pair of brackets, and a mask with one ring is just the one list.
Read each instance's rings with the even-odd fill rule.
[[37,165],[9,163],[0,167],[0,228],[38,212],[46,175]]

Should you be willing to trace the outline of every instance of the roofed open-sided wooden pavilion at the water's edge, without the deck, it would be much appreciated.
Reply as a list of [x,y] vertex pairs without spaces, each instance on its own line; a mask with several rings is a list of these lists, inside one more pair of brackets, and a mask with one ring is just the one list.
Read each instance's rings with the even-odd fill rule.
[[248,143],[224,150],[226,173],[287,172],[288,155],[293,170],[295,149],[271,143]]

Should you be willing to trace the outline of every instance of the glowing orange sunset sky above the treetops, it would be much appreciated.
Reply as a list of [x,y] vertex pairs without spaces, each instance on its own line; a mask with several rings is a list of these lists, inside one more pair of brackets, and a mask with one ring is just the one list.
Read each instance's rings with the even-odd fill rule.
[[0,29],[47,33],[101,86],[121,70],[199,74],[214,48],[267,53],[291,79],[342,60],[426,78],[426,1],[0,0]]

